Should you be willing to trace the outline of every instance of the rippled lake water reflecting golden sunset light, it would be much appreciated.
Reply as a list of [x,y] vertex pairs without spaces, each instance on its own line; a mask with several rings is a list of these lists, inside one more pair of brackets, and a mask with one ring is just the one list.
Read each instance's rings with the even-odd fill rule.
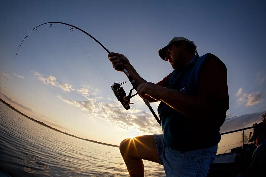
[[[145,176],[165,176],[144,160]],[[70,137],[0,102],[0,170],[10,176],[129,176],[119,148]]]

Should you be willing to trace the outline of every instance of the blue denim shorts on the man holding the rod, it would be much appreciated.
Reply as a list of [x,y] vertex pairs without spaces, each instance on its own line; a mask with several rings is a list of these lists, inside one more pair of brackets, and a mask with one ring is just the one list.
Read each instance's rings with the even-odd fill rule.
[[162,134],[153,136],[159,162],[163,165],[167,177],[207,176],[217,153],[217,145],[192,151],[179,151],[167,147]]

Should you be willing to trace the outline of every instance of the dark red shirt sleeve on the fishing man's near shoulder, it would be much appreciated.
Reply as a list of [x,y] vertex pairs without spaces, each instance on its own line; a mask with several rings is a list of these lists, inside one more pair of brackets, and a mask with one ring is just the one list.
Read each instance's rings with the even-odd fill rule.
[[213,100],[219,108],[229,109],[226,66],[216,56],[209,56],[199,75],[197,95]]

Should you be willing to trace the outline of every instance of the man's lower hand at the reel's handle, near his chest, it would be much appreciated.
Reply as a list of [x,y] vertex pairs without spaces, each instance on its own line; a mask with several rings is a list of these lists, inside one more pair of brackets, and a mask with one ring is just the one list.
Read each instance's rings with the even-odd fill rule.
[[147,99],[147,95],[155,100],[161,100],[163,92],[167,90],[165,87],[161,87],[152,82],[146,82],[140,84],[138,87],[138,94],[141,98]]

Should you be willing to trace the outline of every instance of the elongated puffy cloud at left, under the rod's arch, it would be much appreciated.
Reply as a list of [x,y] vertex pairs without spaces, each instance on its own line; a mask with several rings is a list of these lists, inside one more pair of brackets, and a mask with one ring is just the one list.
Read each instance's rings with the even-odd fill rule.
[[75,89],[72,88],[72,85],[69,85],[67,83],[59,83],[56,81],[56,77],[49,75],[48,77],[43,77],[43,74],[40,74],[39,72],[33,72],[33,75],[38,77],[38,80],[41,81],[43,84],[46,85],[52,85],[54,87],[61,88],[64,92],[70,92]]

